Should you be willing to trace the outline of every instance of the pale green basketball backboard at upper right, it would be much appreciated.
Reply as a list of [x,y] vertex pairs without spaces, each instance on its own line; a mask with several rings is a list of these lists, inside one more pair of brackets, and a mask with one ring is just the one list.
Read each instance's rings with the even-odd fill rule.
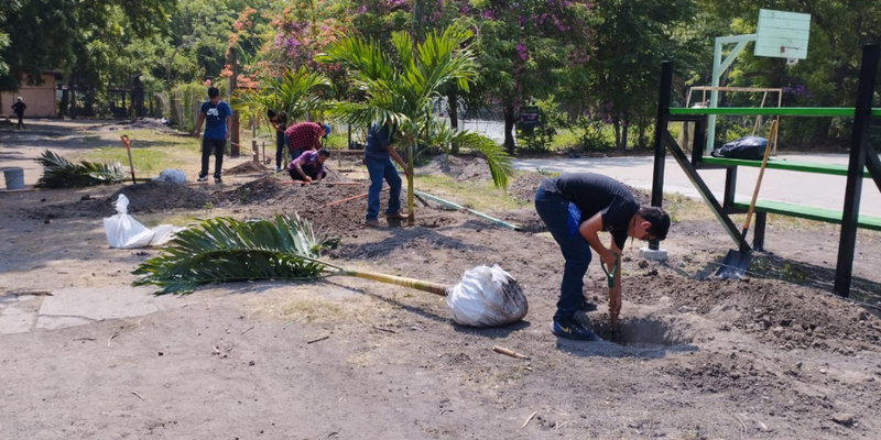
[[805,59],[811,14],[760,9],[757,35],[755,56]]

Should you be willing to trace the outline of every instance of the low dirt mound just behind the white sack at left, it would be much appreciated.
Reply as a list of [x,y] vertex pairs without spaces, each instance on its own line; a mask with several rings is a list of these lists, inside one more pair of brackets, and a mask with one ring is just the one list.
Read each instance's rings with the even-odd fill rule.
[[150,180],[118,190],[108,198],[108,204],[115,204],[121,194],[129,198],[129,213],[164,211],[175,208],[200,209],[210,200],[207,194],[198,189],[167,182]]

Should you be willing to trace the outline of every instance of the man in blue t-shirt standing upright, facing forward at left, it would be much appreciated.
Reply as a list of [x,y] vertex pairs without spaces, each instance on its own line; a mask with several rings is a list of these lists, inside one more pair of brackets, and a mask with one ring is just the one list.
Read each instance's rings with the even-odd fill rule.
[[217,87],[208,88],[208,100],[202,103],[202,112],[193,132],[194,138],[199,136],[203,121],[205,121],[205,135],[202,139],[202,170],[197,180],[208,180],[208,161],[214,152],[214,182],[219,184],[224,182],[220,178],[220,170],[224,166],[229,130],[232,127],[232,110],[229,105],[220,100],[220,90]]

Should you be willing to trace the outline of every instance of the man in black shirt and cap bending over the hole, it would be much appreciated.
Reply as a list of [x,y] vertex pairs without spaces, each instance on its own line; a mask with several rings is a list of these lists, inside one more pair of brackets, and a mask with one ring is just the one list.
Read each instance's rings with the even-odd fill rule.
[[[661,208],[641,207],[624,185],[592,173],[570,173],[544,179],[535,191],[535,210],[565,260],[551,331],[562,338],[596,340],[596,334],[575,319],[575,314],[587,307],[583,288],[591,260],[590,250],[611,270],[628,237],[664,240],[670,229],[670,216]],[[600,231],[612,235],[609,248],[600,242]],[[616,271],[614,278],[620,295],[621,271]]]

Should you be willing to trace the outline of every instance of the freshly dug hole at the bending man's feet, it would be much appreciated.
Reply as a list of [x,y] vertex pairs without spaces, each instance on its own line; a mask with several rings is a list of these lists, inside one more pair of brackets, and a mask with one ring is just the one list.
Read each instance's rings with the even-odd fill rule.
[[626,317],[619,319],[617,339],[612,340],[609,316],[602,314],[590,318],[590,326],[598,337],[619,345],[656,349],[686,345],[694,339],[686,324],[679,326],[673,320],[657,317]]

